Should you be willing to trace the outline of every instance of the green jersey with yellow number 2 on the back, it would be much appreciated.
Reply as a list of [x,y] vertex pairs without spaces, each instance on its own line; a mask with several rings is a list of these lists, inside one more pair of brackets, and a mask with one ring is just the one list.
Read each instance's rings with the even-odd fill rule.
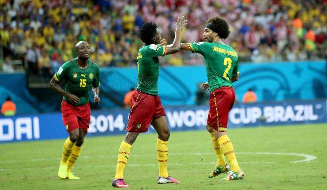
[[206,61],[210,92],[222,86],[233,87],[231,78],[239,73],[238,57],[233,48],[219,42],[190,43],[188,46]]

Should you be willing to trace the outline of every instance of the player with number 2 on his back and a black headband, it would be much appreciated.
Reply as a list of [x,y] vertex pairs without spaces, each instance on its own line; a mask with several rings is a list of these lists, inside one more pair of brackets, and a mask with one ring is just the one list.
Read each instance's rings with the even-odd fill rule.
[[[227,22],[216,16],[207,20],[203,37],[205,42],[182,44],[180,50],[188,50],[201,54],[206,61],[208,82],[203,83],[204,90],[210,89],[210,110],[207,121],[209,131],[217,154],[217,166],[209,174],[209,178],[231,171],[224,181],[244,178],[240,169],[233,145],[226,135],[228,112],[235,102],[233,82],[238,80],[238,57],[236,52],[222,39],[229,35]],[[228,164],[225,162],[225,157]]]

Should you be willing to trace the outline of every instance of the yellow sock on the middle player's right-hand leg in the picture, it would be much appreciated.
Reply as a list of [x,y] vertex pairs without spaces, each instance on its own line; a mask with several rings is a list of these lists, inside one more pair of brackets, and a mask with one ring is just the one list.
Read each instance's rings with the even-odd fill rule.
[[168,177],[167,159],[168,159],[168,141],[157,139],[157,155],[159,163],[159,176]]

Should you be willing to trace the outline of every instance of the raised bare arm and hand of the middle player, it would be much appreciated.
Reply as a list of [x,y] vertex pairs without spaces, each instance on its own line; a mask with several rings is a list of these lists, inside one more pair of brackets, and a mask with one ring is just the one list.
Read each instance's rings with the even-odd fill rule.
[[177,26],[175,31],[175,39],[173,43],[169,46],[166,46],[166,54],[174,54],[176,52],[179,52],[180,49],[180,34],[183,29],[183,27],[187,24],[187,20],[184,19],[184,16],[177,18]]

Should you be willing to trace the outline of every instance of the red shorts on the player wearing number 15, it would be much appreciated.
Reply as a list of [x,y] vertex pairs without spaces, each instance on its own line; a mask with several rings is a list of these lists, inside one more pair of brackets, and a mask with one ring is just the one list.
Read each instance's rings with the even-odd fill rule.
[[62,122],[67,131],[82,128],[86,133],[89,129],[91,108],[90,103],[82,106],[73,106],[66,101],[61,102]]

